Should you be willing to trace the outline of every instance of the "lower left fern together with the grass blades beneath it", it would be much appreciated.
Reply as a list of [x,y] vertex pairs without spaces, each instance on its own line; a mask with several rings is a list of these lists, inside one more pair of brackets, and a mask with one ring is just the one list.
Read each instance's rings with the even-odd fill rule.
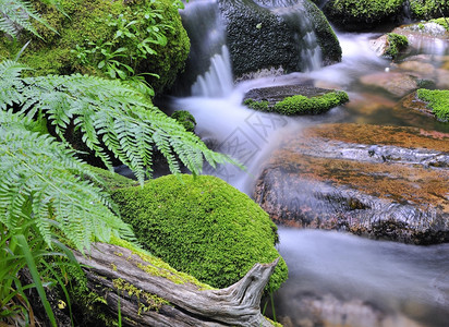
[[[87,166],[39,130],[31,118],[0,110],[0,316],[26,316],[31,311],[24,291],[35,287],[56,325],[43,278],[66,291],[46,258],[64,256],[76,265],[63,243],[84,252],[92,240],[107,242],[112,234],[133,240],[133,232],[108,195],[81,180],[80,175],[93,175]],[[24,267],[34,281],[26,287],[17,278]]]

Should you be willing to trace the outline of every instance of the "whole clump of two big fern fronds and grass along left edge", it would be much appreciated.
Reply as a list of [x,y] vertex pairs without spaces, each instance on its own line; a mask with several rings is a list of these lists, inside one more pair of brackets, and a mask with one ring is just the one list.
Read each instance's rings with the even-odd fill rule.
[[[120,81],[78,74],[22,77],[26,69],[15,61],[0,63],[0,315],[31,320],[24,290],[35,287],[56,326],[45,286],[65,289],[58,272],[61,264],[52,267],[46,258],[74,262],[63,244],[84,252],[93,240],[134,240],[109,196],[81,178],[98,182],[64,141],[70,124],[107,166],[108,149],[141,183],[150,173],[154,148],[166,156],[173,173],[180,172],[179,160],[194,174],[202,171],[204,159],[211,166],[232,160],[209,150]],[[45,133],[47,121],[62,142]],[[33,284],[22,286],[17,274],[24,267]]]

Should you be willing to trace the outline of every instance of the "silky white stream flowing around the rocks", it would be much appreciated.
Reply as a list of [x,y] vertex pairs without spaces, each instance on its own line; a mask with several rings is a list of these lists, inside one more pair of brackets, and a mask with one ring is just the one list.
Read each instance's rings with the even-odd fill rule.
[[[206,173],[250,196],[272,152],[308,126],[359,123],[449,133],[448,123],[405,109],[397,96],[360,83],[362,76],[392,69],[390,60],[378,58],[368,46],[380,33],[338,34],[343,50],[340,63],[233,84],[229,52],[217,26],[206,41],[214,43],[215,51],[209,70],[197,76],[191,96],[172,97],[170,108],[189,110],[197,121],[195,133],[206,144],[246,166],[246,172],[222,166]],[[439,66],[439,60],[448,60],[448,45],[423,41],[409,56],[423,53],[433,55],[432,64]],[[319,117],[294,118],[241,105],[250,89],[286,84],[344,89],[350,102]],[[269,304],[267,314],[284,326],[449,326],[449,244],[416,246],[287,227],[280,227],[279,234],[278,250],[289,266],[289,279],[274,295],[275,311]]]

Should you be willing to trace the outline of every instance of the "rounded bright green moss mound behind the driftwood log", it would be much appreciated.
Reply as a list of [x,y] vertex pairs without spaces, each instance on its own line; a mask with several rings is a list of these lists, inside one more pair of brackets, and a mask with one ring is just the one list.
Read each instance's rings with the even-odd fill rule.
[[[209,175],[162,177],[112,195],[122,219],[154,255],[213,287],[241,279],[255,263],[279,257],[277,227],[250,197]],[[267,290],[287,279],[280,259]]]

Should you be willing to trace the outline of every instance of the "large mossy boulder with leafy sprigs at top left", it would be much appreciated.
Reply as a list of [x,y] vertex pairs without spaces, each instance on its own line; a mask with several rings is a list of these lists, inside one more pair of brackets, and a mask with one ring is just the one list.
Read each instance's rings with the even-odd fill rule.
[[[184,66],[190,40],[172,0],[61,0],[66,15],[44,1],[32,2],[58,34],[45,26],[36,26],[43,39],[28,33],[23,33],[19,41],[2,37],[0,56],[2,59],[14,58],[32,39],[21,61],[34,69],[31,72],[34,75],[81,72],[110,76],[101,63],[108,58],[110,64],[116,64],[124,73],[129,72],[122,63],[136,74],[158,74],[160,78],[145,75],[158,92],[171,85]],[[125,37],[126,32],[135,37]],[[163,38],[167,39],[166,45]],[[155,52],[147,58],[135,58],[142,53],[144,44]]]

